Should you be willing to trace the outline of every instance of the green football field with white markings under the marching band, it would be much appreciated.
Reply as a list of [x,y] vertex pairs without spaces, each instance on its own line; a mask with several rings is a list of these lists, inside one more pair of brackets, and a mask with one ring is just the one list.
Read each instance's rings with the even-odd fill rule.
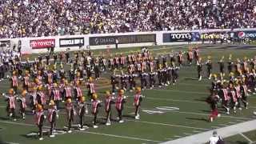
[[[210,55],[214,61],[214,73],[218,72],[217,61],[225,56],[225,60],[229,54],[233,58],[253,58],[256,55],[256,46],[199,46],[202,60]],[[124,48],[119,50],[110,50],[111,54],[126,53],[139,50],[140,48]],[[170,51],[188,50],[188,46],[151,46],[150,50],[154,54],[165,54]],[[102,54],[106,51],[94,50],[94,54]],[[37,55],[31,55],[33,58]],[[186,58],[186,57],[185,57]],[[203,66],[204,72],[205,66]],[[86,125],[89,129],[85,131],[73,130],[73,133],[66,134],[63,127],[66,126],[65,110],[61,110],[57,122],[57,132],[55,138],[49,138],[47,133],[44,135],[43,141],[38,141],[36,136],[38,128],[34,125],[34,117],[31,114],[26,115],[26,120],[18,118],[18,121],[11,121],[6,116],[6,102],[4,98],[0,98],[0,143],[159,143],[174,140],[198,134],[208,130],[214,130],[223,126],[234,125],[239,122],[246,122],[254,119],[253,111],[256,110],[256,95],[249,97],[249,109],[238,110],[233,114],[232,110],[229,115],[222,114],[214,122],[208,122],[210,114],[210,106],[205,102],[209,96],[210,80],[205,78],[201,82],[197,79],[197,70],[195,64],[193,66],[181,67],[179,71],[178,83],[174,86],[166,86],[164,88],[154,88],[153,90],[143,90],[142,94],[146,97],[142,102],[140,111],[141,119],[134,119],[134,106],[132,92],[126,92],[125,95],[130,96],[127,99],[124,110],[125,122],[119,124],[112,122],[111,126],[105,126],[105,114],[103,107],[100,108],[101,113],[98,117],[98,129],[92,128],[93,117],[89,113],[86,115]],[[108,74],[102,74],[103,78],[96,82],[99,98],[103,98],[105,90],[110,90],[110,81]],[[10,87],[7,81],[0,82],[0,92],[6,93]],[[84,94],[86,89],[84,89]],[[63,107],[63,104],[62,104]],[[224,113],[220,108],[221,113]],[[28,113],[30,110],[28,109]],[[18,115],[19,116],[19,115]],[[112,109],[112,118],[116,119],[117,114]],[[77,124],[76,119],[74,124]],[[48,122],[45,122],[44,130],[49,130]],[[250,139],[256,141],[255,132],[248,133]],[[226,141],[234,144],[249,143],[245,138],[226,138]]]

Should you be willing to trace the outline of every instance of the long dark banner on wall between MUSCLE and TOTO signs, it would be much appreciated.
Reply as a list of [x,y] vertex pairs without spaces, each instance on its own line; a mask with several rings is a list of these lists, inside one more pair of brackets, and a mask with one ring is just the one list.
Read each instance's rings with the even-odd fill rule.
[[90,46],[114,45],[117,42],[117,40],[118,44],[156,42],[156,34],[90,37],[89,43]]

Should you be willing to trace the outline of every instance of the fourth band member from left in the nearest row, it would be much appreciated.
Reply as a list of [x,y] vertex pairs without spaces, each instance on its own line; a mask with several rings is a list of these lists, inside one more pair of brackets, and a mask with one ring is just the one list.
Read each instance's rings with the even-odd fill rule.
[[84,115],[88,114],[88,109],[86,105],[86,98],[80,97],[78,103],[78,116],[79,116],[79,130],[85,130],[84,128]]

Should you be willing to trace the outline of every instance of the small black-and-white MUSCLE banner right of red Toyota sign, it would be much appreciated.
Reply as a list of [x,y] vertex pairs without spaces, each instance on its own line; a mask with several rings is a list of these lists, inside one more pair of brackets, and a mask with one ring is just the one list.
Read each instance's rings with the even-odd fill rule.
[[59,47],[84,46],[84,38],[60,38]]

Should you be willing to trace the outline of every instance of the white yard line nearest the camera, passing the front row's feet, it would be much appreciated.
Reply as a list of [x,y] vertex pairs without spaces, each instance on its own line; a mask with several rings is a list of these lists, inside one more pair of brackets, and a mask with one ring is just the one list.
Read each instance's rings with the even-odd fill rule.
[[[1,120],[0,120],[0,122],[19,125],[19,126],[35,126],[35,125],[32,125],[32,124],[27,124],[27,123],[22,123],[22,122],[7,122],[7,121],[1,121]],[[44,127],[50,128],[49,126],[44,126]],[[128,138],[128,139],[141,140],[141,141],[146,141],[146,142],[161,142],[161,141],[154,141],[154,140],[146,139],[146,138],[134,138],[134,137],[127,137],[127,136],[122,136],[122,135],[96,133],[96,132],[91,132],[91,131],[79,131],[79,130],[75,130],[75,131],[82,132],[82,133],[87,133],[87,134],[104,135],[104,136],[109,136],[109,137],[114,137],[114,138]]]

